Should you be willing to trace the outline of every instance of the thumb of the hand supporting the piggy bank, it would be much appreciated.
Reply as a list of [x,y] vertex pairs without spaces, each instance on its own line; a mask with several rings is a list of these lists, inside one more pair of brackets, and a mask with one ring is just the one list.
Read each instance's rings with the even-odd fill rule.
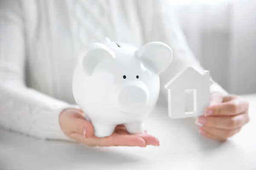
[[78,133],[82,136],[90,138],[94,134],[94,128],[91,122],[85,119],[71,117],[65,120],[66,130],[68,134]]

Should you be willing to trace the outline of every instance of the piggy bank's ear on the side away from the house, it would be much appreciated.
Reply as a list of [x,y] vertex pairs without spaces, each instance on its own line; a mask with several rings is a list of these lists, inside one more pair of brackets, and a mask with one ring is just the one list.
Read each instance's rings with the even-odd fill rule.
[[100,63],[114,58],[114,52],[106,45],[101,43],[93,43],[86,50],[82,51],[79,56],[79,63],[88,75],[92,75],[94,69]]

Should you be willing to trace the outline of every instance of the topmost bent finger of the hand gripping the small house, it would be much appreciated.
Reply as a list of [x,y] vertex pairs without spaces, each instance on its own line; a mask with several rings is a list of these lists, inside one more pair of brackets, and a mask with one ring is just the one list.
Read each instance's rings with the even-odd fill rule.
[[217,105],[212,105],[205,111],[205,116],[237,115],[248,108],[248,102],[243,99],[234,99]]

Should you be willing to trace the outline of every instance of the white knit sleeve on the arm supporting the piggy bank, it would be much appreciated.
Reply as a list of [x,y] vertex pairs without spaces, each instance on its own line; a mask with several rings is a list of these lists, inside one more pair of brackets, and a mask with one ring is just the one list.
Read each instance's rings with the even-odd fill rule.
[[25,39],[20,0],[0,1],[0,126],[39,139],[71,140],[58,115],[76,107],[25,85]]

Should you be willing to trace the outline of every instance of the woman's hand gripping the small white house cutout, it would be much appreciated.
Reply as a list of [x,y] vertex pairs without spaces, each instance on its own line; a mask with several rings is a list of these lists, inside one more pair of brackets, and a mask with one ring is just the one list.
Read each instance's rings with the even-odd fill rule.
[[248,102],[234,95],[212,94],[210,106],[195,123],[207,138],[225,141],[249,122]]

